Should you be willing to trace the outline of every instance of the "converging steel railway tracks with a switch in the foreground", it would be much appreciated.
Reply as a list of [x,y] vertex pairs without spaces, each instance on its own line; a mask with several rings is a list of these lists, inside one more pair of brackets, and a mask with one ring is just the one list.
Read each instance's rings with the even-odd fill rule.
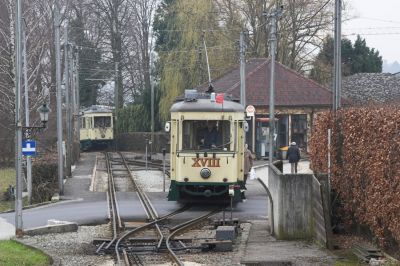
[[[117,155],[117,157],[114,155]],[[179,213],[188,210],[190,205],[185,205],[167,215],[159,217],[156,209],[152,205],[146,193],[137,183],[131,170],[132,164],[136,166],[142,166],[144,163],[145,162],[139,160],[127,160],[122,153],[106,153],[107,173],[109,175],[108,195],[110,220],[112,224],[113,236],[111,241],[104,241],[99,245],[97,253],[115,254],[118,265],[144,265],[140,258],[140,254],[154,254],[154,252],[156,252],[156,254],[159,256],[164,257],[165,254],[167,254],[167,257],[173,265],[184,265],[179,259],[179,255],[177,255],[175,251],[186,250],[189,248],[186,248],[183,244],[176,245],[174,238],[193,226],[202,223],[210,216],[220,212],[221,209],[214,209],[202,216],[196,217],[190,221],[186,221],[171,229],[162,227],[165,221]],[[113,169],[113,166],[116,165],[119,167]],[[148,163],[148,165],[152,168],[160,170],[159,164]],[[117,176],[124,176],[125,178],[129,178],[129,180],[132,182],[132,187],[137,192],[140,202],[147,215],[148,222],[144,225],[129,230],[124,228],[124,224],[119,214],[116,196],[116,192],[118,191],[118,184],[116,180],[120,178]],[[137,237],[140,233],[148,233],[149,230],[155,232],[156,237],[148,239],[148,241]],[[162,260],[165,262],[164,257]]]

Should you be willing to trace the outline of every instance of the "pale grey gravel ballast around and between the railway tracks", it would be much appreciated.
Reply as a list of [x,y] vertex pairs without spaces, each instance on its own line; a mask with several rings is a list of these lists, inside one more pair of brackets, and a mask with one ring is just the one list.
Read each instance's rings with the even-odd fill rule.
[[[104,173],[105,165],[102,160],[98,162],[98,171],[94,178],[92,189],[94,191],[106,191],[107,182]],[[163,175],[161,171],[134,171],[140,186],[147,192],[161,192],[163,190]],[[169,188],[170,181],[166,178],[166,189]],[[245,245],[250,230],[250,224],[241,224],[239,236],[235,240],[233,252],[200,252],[178,253],[185,265],[240,265],[240,260],[244,256]],[[208,230],[207,230],[208,228]],[[192,230],[184,236],[192,238],[212,237],[215,230],[206,229]],[[110,225],[98,226],[79,226],[77,232],[63,234],[48,234],[38,236],[24,236],[20,241],[24,244],[43,250],[54,259],[54,265],[76,266],[76,265],[115,265],[113,257],[109,255],[96,255],[96,246],[92,244],[94,239],[111,238]],[[199,244],[195,241],[193,244]],[[164,255],[165,256],[165,255]],[[156,259],[156,257],[159,257]],[[144,265],[171,265],[168,259],[157,255],[141,255]]]

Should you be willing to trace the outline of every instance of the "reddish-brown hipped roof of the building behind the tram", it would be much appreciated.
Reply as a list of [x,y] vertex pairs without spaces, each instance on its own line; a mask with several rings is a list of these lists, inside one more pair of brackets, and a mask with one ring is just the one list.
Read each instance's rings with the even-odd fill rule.
[[[332,93],[327,88],[288,67],[275,64],[275,106],[331,106]],[[246,63],[246,104],[269,105],[270,60],[250,59]],[[215,92],[240,98],[240,66],[212,81]],[[206,91],[208,84],[197,88]]]

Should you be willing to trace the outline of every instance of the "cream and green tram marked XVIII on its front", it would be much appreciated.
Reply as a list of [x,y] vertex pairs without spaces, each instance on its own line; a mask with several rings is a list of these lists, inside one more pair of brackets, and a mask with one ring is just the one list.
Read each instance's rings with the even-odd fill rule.
[[[244,199],[244,107],[233,101],[215,101],[197,94],[171,107],[170,201],[225,201]],[[209,126],[210,125],[210,126]],[[208,128],[213,142],[205,145]],[[210,132],[212,131],[210,130]],[[205,133],[206,132],[206,133]],[[215,136],[216,135],[216,136]]]

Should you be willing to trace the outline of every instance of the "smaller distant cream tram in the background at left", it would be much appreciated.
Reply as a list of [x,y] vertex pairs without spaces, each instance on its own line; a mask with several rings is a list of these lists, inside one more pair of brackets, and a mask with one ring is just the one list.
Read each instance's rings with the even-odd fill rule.
[[80,146],[82,151],[107,149],[114,142],[112,108],[93,105],[81,111]]

